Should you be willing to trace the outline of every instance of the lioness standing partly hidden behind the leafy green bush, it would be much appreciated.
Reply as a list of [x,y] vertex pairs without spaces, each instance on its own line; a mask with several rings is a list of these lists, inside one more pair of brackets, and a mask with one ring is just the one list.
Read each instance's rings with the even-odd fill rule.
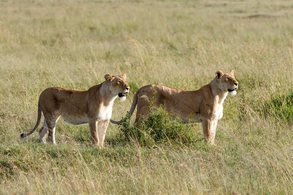
[[[197,91],[184,91],[160,84],[146,85],[140,88],[129,111],[131,116],[137,105],[135,122],[149,113],[149,100],[154,96],[154,105],[164,105],[168,111],[178,114],[182,120],[201,122],[208,144],[214,144],[217,122],[223,117],[223,102],[228,93],[236,95],[238,81],[234,71],[217,71],[215,78]],[[155,95],[154,95],[155,93]],[[114,124],[120,121],[110,120]]]

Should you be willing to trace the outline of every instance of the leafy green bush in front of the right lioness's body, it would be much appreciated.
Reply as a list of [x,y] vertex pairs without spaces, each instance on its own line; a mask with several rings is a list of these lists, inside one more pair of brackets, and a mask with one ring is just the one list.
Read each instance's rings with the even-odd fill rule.
[[195,123],[185,123],[178,116],[168,113],[161,107],[150,107],[148,117],[141,118],[138,126],[130,124],[129,114],[121,120],[121,137],[127,141],[137,141],[142,146],[154,146],[158,143],[191,144],[203,137],[196,137]]

